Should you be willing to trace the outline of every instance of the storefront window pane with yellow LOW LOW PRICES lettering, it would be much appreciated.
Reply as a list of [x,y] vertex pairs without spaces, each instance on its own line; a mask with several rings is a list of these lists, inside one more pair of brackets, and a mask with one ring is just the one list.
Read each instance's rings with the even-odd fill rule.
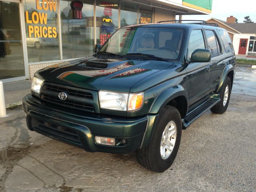
[[25,0],[28,62],[60,59],[57,0]]

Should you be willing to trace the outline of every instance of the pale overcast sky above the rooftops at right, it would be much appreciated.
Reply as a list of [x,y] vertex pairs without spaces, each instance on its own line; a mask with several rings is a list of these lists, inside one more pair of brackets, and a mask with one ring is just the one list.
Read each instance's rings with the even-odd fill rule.
[[256,23],[256,0],[213,0],[210,15],[183,15],[182,19],[207,20],[213,17],[226,21],[231,15],[238,19],[238,23],[242,23],[245,16],[250,16]]

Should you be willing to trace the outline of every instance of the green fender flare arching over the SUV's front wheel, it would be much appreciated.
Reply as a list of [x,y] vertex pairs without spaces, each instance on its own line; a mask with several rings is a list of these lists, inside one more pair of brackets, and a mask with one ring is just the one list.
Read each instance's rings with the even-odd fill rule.
[[160,95],[156,97],[154,100],[149,113],[150,114],[158,114],[168,102],[173,100],[174,98],[178,96],[184,96],[187,100],[187,109],[186,112],[188,112],[188,94],[185,91],[185,89],[181,85],[175,85],[171,88],[168,88],[164,90]]

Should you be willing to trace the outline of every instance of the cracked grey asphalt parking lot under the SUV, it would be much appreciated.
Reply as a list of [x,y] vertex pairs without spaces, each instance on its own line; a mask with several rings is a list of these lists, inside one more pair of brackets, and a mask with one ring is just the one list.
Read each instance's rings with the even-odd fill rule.
[[26,128],[21,108],[0,120],[0,191],[256,191],[256,70],[237,68],[226,113],[188,129],[174,164],[154,173],[135,154],[90,153]]

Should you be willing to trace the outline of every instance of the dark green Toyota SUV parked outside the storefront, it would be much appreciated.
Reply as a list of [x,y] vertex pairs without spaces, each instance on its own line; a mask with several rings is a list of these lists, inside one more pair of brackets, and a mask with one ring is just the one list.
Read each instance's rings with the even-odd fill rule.
[[94,52],[36,72],[23,99],[29,130],[88,152],[136,151],[142,166],[164,172],[182,128],[228,107],[236,57],[218,26],[125,26]]

